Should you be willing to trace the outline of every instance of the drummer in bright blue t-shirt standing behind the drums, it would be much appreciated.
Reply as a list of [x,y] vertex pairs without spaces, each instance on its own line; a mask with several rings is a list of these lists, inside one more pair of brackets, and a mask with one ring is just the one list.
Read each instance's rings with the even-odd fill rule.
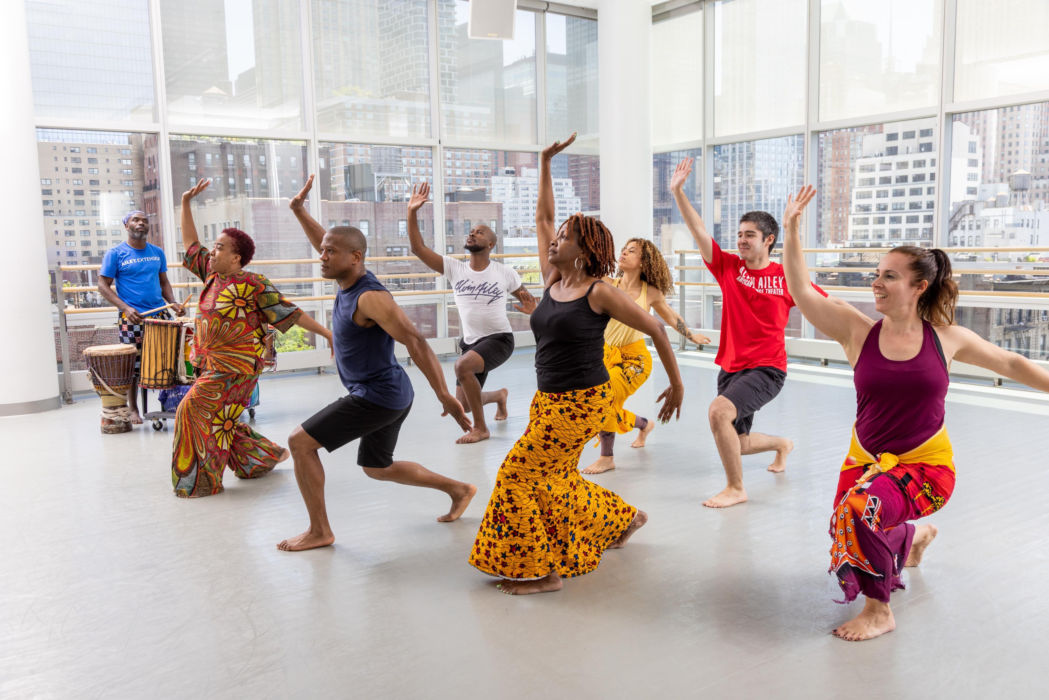
[[[177,316],[186,310],[175,302],[175,295],[168,281],[168,260],[164,251],[146,242],[149,237],[149,216],[133,211],[124,217],[128,239],[106,252],[99,271],[99,292],[120,310],[117,325],[121,342],[133,344],[138,353],[135,358],[135,377],[128,389],[128,408],[131,423],[141,424],[138,413],[138,372],[142,363],[143,312],[172,304]],[[115,287],[114,287],[115,283]],[[150,318],[171,318],[167,310],[150,314]]]

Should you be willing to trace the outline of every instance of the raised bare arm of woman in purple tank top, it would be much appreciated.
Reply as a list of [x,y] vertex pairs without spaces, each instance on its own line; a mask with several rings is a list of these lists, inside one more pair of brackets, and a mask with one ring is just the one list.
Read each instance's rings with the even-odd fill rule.
[[[808,185],[801,188],[797,197],[787,196],[787,211],[784,213],[784,276],[797,310],[820,332],[841,343],[851,361],[854,340],[862,342],[871,328],[870,319],[855,311],[835,303],[830,297],[817,292],[809,279],[809,266],[801,252],[800,221],[806,205],[816,196],[816,188]],[[858,348],[857,348],[858,349]],[[858,356],[858,352],[857,352]]]

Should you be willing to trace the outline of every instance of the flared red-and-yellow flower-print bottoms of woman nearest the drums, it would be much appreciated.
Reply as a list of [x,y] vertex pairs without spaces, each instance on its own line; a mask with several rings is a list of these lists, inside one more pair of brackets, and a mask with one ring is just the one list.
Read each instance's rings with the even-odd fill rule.
[[224,491],[227,467],[240,479],[265,475],[284,449],[238,419],[251,402],[258,375],[205,369],[175,412],[171,484],[175,495],[195,499]]

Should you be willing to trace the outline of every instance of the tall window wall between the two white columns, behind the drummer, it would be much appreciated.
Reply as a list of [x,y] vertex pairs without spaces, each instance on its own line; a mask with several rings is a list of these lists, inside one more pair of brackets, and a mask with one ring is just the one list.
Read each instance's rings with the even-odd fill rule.
[[[538,153],[579,131],[554,164],[558,216],[600,215],[595,10],[521,2],[514,38],[494,41],[470,36],[467,0],[25,4],[41,216],[49,262],[78,288],[70,307],[106,307],[98,266],[132,209],[148,213],[176,294],[192,292],[177,264],[180,195],[205,178],[191,204],[200,240],[248,232],[254,269],[326,319],[331,285],[288,209],[315,175],[307,209],[361,229],[368,268],[427,337],[457,335],[458,319],[444,280],[410,256],[414,186],[433,188],[427,245],[461,254],[463,228],[488,224],[501,259],[535,283]],[[112,325],[97,316],[69,318]]]

